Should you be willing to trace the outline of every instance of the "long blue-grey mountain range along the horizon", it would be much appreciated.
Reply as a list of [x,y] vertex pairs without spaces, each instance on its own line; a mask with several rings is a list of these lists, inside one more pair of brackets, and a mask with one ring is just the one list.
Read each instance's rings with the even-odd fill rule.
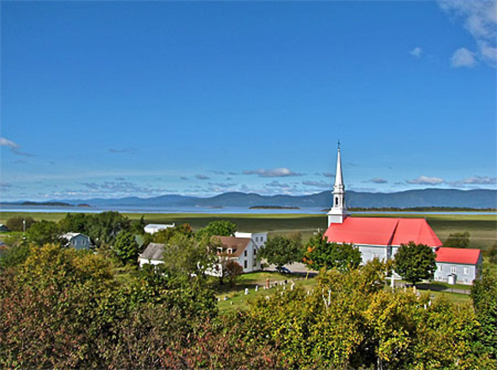
[[[14,202],[15,204],[23,201]],[[200,206],[200,207],[251,207],[284,206],[300,208],[327,208],[331,206],[331,192],[311,195],[259,195],[255,193],[227,192],[201,198],[183,195],[161,195],[152,198],[136,196],[118,199],[57,199],[54,202],[90,206]],[[347,191],[348,207],[469,207],[497,208],[497,190],[492,189],[419,189],[393,193]],[[30,202],[32,203],[32,202]],[[5,203],[4,203],[5,204]],[[12,204],[12,203],[11,203]]]

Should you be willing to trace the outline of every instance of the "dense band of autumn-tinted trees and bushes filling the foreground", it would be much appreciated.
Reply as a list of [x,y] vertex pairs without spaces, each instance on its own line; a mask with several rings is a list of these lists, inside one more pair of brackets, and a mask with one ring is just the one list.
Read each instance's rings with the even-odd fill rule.
[[[189,256],[207,250],[173,238]],[[496,367],[495,277],[475,285],[475,312],[386,290],[388,266],[374,260],[323,270],[314,291],[280,289],[247,311],[219,315],[202,268],[183,262],[185,270],[129,268],[118,278],[102,255],[31,247],[0,271],[0,368]]]

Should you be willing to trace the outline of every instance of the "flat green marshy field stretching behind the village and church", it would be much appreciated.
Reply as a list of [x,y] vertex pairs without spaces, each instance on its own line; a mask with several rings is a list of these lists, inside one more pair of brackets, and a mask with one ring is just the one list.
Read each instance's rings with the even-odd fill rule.
[[[65,212],[0,212],[0,223],[14,216],[30,216],[35,220],[58,221]],[[194,230],[214,220],[229,220],[241,231],[269,231],[269,235],[301,232],[304,240],[318,228],[326,228],[326,215],[316,214],[209,214],[209,213],[125,213],[132,220],[142,215],[147,223],[190,224]],[[425,217],[437,236],[443,242],[450,233],[469,231],[471,247],[487,249],[497,240],[497,213],[488,214],[356,214],[361,217]]]

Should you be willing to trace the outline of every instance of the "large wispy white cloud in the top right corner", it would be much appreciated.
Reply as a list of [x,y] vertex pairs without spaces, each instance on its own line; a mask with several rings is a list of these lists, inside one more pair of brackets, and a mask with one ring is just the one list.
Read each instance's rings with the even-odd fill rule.
[[[487,64],[497,64],[497,2],[492,0],[439,0],[440,8],[463,19],[464,28],[478,46],[475,55]],[[460,50],[460,49],[459,49]]]

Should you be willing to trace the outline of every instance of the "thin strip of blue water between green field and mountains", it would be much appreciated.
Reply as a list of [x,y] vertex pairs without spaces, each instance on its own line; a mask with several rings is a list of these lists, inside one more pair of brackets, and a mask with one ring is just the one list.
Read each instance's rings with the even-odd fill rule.
[[[300,209],[249,209],[248,207],[181,207],[181,206],[95,206],[95,207],[62,207],[62,206],[32,206],[32,205],[15,205],[4,204],[0,206],[1,212],[79,212],[79,213],[99,213],[104,211],[117,211],[122,213],[221,213],[221,214],[326,214],[323,208],[300,208]],[[467,215],[497,215],[497,212],[420,212],[420,211],[357,211],[353,214],[467,214]]]

